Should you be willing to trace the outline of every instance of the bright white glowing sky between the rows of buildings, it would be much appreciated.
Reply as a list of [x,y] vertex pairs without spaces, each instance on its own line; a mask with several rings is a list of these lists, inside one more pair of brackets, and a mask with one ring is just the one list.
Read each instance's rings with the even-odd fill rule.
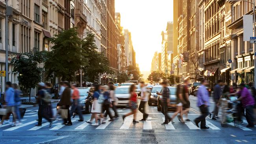
[[132,34],[136,63],[148,73],[154,52],[161,51],[161,31],[173,21],[173,0],[115,0],[115,12]]

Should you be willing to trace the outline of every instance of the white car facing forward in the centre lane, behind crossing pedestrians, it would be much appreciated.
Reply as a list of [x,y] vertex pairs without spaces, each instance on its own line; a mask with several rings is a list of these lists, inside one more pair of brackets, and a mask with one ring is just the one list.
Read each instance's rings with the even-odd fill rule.
[[130,86],[120,86],[115,89],[115,97],[117,99],[117,107],[129,105],[130,101]]

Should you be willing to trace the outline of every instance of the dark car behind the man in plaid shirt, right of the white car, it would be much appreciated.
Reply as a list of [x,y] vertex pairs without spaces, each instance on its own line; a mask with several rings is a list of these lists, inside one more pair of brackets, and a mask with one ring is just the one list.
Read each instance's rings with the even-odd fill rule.
[[[177,98],[176,98],[176,87],[168,87],[168,89],[170,90],[170,103],[171,105],[168,106],[168,110],[175,110],[177,105],[176,105],[176,101],[177,101]],[[163,92],[163,89],[161,89],[161,92]],[[158,95],[158,98],[157,98],[157,110],[158,111],[161,111],[161,99],[162,99],[162,96]]]

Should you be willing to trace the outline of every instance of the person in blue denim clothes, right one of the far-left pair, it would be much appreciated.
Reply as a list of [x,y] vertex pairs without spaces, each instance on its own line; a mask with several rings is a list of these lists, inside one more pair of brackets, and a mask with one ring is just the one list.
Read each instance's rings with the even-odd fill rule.
[[19,87],[17,85],[17,83],[13,83],[12,87],[14,89],[14,98],[15,98],[15,113],[17,115],[16,118],[16,126],[19,126],[21,123],[21,116],[20,116],[20,105],[21,105],[21,101],[20,101],[20,93],[21,91],[19,90]]

